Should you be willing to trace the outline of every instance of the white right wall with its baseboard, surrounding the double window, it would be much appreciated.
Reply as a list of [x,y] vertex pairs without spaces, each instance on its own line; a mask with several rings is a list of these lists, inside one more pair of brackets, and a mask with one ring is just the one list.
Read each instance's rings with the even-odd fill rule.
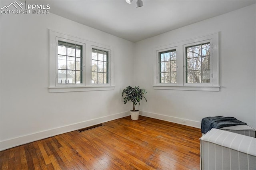
[[[172,22],[172,21],[166,21]],[[136,43],[134,82],[148,91],[143,114],[200,127],[203,117],[231,116],[256,128],[256,6],[248,6]],[[153,48],[220,32],[219,92],[154,90]]]

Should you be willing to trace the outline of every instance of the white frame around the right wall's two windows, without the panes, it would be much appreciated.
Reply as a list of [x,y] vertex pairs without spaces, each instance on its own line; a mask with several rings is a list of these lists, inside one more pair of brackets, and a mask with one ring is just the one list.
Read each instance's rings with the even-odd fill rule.
[[[186,47],[210,42],[210,83],[186,83]],[[154,89],[219,91],[219,34],[213,33],[198,38],[184,40],[170,45],[163,45],[153,49]],[[160,83],[159,52],[176,49],[177,83]]]

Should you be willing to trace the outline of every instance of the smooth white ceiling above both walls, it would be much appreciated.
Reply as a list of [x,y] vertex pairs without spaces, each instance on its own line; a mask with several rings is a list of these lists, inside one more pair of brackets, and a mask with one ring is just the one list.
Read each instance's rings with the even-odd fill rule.
[[[28,2],[32,2],[27,0]],[[256,3],[256,0],[36,0],[50,12],[103,32],[138,42]]]

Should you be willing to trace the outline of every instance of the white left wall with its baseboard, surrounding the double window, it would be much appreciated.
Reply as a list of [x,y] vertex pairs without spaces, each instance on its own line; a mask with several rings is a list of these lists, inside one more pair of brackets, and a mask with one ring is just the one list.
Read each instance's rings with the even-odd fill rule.
[[[134,43],[55,14],[0,19],[0,150],[128,114],[121,93],[133,85]],[[115,89],[49,93],[48,29],[114,47]]]

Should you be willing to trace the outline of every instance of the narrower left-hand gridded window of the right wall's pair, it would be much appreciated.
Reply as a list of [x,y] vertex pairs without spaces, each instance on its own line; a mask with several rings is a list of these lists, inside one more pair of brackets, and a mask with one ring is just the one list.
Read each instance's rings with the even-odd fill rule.
[[176,83],[176,49],[159,52],[160,83]]

